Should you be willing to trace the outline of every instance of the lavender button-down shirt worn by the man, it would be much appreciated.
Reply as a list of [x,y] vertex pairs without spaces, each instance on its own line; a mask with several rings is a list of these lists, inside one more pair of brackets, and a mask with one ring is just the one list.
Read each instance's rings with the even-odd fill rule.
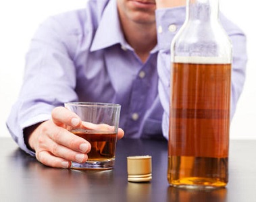
[[[145,63],[124,38],[116,0],[89,0],[85,9],[46,20],[26,55],[24,84],[7,120],[11,136],[32,154],[23,129],[51,119],[55,106],[80,101],[121,104],[125,137],[168,138],[170,43],[185,13],[185,7],[156,11],[158,42]],[[221,20],[234,46],[234,114],[245,80],[245,35]]]

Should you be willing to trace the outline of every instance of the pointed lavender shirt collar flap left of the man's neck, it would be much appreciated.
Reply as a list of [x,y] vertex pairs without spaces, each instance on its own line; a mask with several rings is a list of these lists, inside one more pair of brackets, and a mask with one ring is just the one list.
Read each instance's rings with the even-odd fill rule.
[[109,1],[105,11],[103,11],[91,51],[101,50],[114,44],[127,44],[120,26],[116,0]]

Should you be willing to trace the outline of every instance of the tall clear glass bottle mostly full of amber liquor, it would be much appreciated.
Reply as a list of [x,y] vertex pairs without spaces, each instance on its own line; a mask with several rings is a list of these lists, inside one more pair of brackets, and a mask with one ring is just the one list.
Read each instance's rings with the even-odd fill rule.
[[168,182],[214,189],[228,183],[232,45],[218,0],[187,0],[171,46]]

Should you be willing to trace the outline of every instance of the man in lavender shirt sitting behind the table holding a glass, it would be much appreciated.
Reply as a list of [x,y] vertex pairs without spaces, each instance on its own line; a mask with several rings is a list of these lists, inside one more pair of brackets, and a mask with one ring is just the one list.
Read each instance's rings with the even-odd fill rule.
[[[66,130],[81,123],[63,108],[72,101],[121,104],[126,137],[167,139],[170,43],[184,22],[184,5],[89,0],[84,10],[47,20],[32,39],[24,85],[7,121],[20,147],[47,166],[85,162],[91,145]],[[245,36],[224,17],[222,23],[234,46],[234,114],[245,80]]]

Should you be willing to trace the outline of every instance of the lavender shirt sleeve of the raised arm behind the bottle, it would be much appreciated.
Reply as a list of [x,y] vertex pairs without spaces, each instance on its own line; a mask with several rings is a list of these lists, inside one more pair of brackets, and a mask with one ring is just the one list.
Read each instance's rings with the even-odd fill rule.
[[[157,72],[159,75],[158,92],[163,106],[162,130],[163,136],[168,139],[169,131],[169,102],[170,102],[170,45],[175,34],[182,26],[185,15],[184,7],[172,9],[158,9],[157,20],[157,42],[159,54],[157,58]],[[230,117],[234,116],[238,98],[242,93],[245,83],[245,71],[247,65],[247,47],[245,34],[232,22],[220,15],[220,20],[226,30],[233,46],[232,60],[232,91]]]

